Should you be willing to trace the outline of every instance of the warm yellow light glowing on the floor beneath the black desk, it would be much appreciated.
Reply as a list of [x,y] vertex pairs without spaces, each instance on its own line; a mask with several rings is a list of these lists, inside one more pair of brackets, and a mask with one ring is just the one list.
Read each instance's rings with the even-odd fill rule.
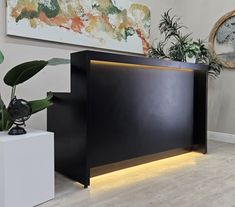
[[196,165],[200,153],[190,152],[135,167],[91,178],[91,195],[96,196],[110,190],[141,185],[146,179],[161,179],[167,173],[175,173]]

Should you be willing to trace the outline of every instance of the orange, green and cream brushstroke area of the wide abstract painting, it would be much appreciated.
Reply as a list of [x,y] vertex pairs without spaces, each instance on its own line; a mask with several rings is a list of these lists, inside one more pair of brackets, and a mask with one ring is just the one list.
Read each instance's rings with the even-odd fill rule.
[[138,38],[147,53],[150,9],[129,1],[124,4],[118,0],[8,0],[8,13],[15,24],[27,21],[31,29],[59,27],[104,45],[107,38],[118,42]]

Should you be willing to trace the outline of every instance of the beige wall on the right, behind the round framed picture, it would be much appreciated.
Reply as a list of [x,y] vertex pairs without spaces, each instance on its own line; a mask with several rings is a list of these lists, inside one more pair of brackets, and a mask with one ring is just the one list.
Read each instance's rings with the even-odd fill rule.
[[[216,21],[232,10],[235,1],[231,0],[179,0],[174,7],[188,31],[205,40]],[[225,69],[218,79],[209,79],[208,95],[208,129],[235,134],[235,69]]]

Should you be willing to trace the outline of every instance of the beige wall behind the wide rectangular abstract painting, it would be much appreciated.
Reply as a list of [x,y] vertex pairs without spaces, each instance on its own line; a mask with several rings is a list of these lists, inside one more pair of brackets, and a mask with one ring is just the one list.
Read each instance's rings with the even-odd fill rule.
[[[148,5],[152,10],[152,32],[154,39],[157,35],[157,25],[160,15],[176,5],[176,0],[133,0]],[[5,0],[0,0],[0,49],[5,54],[5,62],[0,66],[0,91],[5,104],[10,98],[10,88],[3,84],[3,77],[13,66],[35,59],[48,60],[51,57],[69,58],[71,52],[80,51],[84,47],[66,44],[51,43],[38,40],[6,36],[5,25]],[[97,50],[97,49],[96,49]],[[46,96],[47,91],[70,90],[69,66],[51,67],[43,70],[37,76],[17,88],[17,97],[26,100],[39,99]],[[46,111],[33,115],[27,126],[38,129],[46,129]]]

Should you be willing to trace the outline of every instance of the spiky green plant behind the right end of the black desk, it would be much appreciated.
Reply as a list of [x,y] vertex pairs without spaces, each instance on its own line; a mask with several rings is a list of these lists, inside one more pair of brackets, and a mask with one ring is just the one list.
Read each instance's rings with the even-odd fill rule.
[[223,69],[222,63],[210,52],[204,41],[193,40],[191,33],[183,34],[181,29],[185,26],[180,23],[179,17],[171,17],[170,11],[171,9],[164,12],[160,20],[159,31],[163,39],[156,47],[153,45],[150,47],[148,56],[182,62],[194,59],[195,63],[208,65],[208,74],[211,77],[218,77]]

